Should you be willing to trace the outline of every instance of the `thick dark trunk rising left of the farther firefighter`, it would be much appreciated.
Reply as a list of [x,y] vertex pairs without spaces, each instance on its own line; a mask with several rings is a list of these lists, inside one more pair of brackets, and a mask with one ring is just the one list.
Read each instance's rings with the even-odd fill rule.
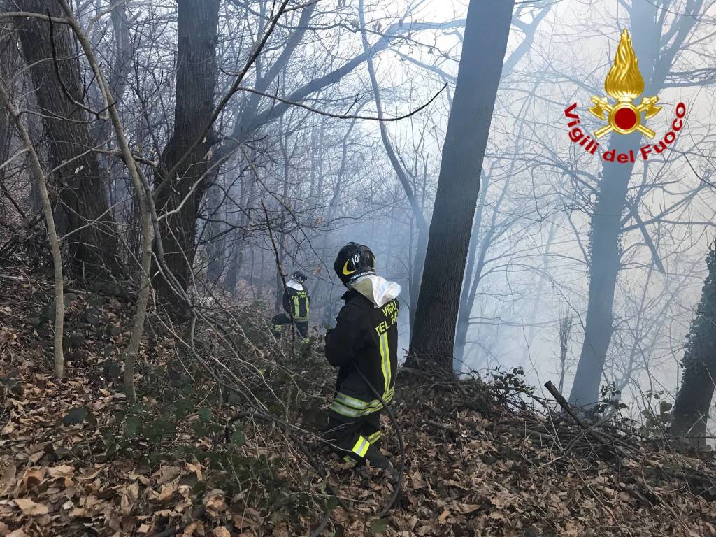
[[[188,289],[195,255],[196,218],[206,188],[211,140],[202,140],[176,174],[167,178],[205,127],[214,107],[217,79],[216,32],[219,0],[179,0],[178,58],[174,132],[162,155],[156,205],[165,259],[183,289]],[[164,183],[165,182],[165,183]],[[164,183],[164,185],[163,185]],[[180,315],[181,301],[168,281],[153,282],[160,300]]]

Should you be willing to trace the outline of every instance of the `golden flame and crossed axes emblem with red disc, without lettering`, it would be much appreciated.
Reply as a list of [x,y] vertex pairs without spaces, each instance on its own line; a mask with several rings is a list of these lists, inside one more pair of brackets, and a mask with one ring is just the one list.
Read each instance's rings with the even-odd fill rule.
[[614,100],[616,105],[606,100],[606,97],[592,97],[591,102],[594,107],[589,112],[599,117],[600,120],[606,120],[608,125],[604,125],[601,129],[594,132],[594,136],[599,138],[607,132],[614,130],[619,134],[629,134],[638,130],[643,135],[653,138],[656,134],[653,130],[642,125],[642,112],[645,112],[644,119],[654,117],[662,110],[657,106],[659,96],[643,97],[642,102],[638,106],[634,106],[632,101],[642,95],[644,92],[644,77],[639,72],[639,60],[634,49],[632,48],[632,38],[629,37],[627,30],[621,31],[621,39],[619,39],[619,47],[616,47],[616,57],[614,57],[614,65],[609,69],[604,81],[604,89]]

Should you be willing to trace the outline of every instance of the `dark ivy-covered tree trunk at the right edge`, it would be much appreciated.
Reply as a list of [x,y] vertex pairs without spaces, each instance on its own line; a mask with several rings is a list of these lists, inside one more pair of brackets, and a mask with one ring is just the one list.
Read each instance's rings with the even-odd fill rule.
[[[691,323],[681,389],[674,402],[672,433],[677,436],[705,435],[716,385],[716,243],[706,257],[706,266],[708,275]],[[692,439],[691,443],[705,445],[705,440]]]

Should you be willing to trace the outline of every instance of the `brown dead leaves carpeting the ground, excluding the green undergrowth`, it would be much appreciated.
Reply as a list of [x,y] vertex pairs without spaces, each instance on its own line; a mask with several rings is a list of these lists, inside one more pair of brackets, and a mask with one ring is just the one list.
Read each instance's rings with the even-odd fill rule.
[[[145,537],[175,525],[186,537],[293,537],[319,522],[319,511],[291,526],[247,506],[243,495],[211,487],[195,493],[193,483],[211,477],[197,460],[165,461],[153,469],[121,458],[99,462],[97,424],[113,420],[124,396],[90,386],[82,374],[55,382],[42,369],[45,351],[29,342],[21,329],[0,328],[0,536],[92,531]],[[716,481],[712,461],[648,447],[618,467],[576,458],[531,437],[495,432],[494,417],[465,409],[464,397],[425,387],[403,389],[395,406],[407,446],[396,507],[377,518],[392,485],[333,472],[331,482],[351,510],[334,508],[324,535],[716,535],[715,503],[672,477],[698,469],[699,479],[712,475]],[[70,411],[74,417],[63,423]],[[387,423],[384,438],[388,448],[395,445]],[[254,453],[263,449],[249,435],[245,442]],[[294,465],[319,498],[314,470],[300,458]]]

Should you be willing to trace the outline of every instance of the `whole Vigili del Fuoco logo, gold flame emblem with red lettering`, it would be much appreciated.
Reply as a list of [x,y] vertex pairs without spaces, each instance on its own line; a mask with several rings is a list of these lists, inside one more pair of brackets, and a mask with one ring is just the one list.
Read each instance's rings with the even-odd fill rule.
[[[628,135],[634,131],[641,132],[644,136],[654,139],[656,132],[644,125],[644,120],[654,117],[662,111],[659,106],[659,96],[642,97],[639,105],[634,105],[634,100],[644,93],[644,77],[639,72],[639,60],[632,48],[632,38],[627,30],[622,30],[619,47],[616,48],[614,64],[609,69],[604,81],[604,89],[616,103],[612,104],[606,97],[592,97],[594,106],[589,109],[594,116],[606,122],[604,127],[594,132],[594,138],[588,135],[579,127],[579,115],[574,113],[577,103],[567,107],[564,115],[571,120],[569,127],[569,139],[576,145],[580,145],[587,153],[596,155],[599,149],[599,140],[609,132],[618,132],[620,135]],[[639,155],[643,160],[648,160],[649,155],[661,155],[669,144],[674,142],[679,130],[684,126],[686,105],[679,102],[675,110],[676,117],[671,123],[671,130],[667,132],[657,144],[643,145],[639,149]],[[604,151],[601,158],[606,162],[633,163],[635,162],[634,150],[629,153],[616,153],[616,149]]]

